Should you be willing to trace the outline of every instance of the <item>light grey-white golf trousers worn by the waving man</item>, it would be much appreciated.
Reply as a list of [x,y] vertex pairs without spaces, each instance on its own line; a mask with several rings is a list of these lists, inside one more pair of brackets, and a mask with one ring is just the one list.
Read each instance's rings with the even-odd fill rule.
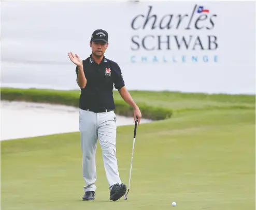
[[116,114],[114,111],[95,113],[79,111],[79,131],[81,134],[82,174],[86,182],[84,191],[96,190],[95,154],[97,139],[102,148],[105,172],[111,190],[112,185],[121,184],[116,158]]

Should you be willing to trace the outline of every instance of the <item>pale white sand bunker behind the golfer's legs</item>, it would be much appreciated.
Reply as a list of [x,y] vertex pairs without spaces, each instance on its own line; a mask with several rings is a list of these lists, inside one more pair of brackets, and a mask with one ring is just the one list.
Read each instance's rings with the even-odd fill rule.
[[[1,140],[78,132],[78,117],[72,106],[1,101]],[[117,115],[118,126],[132,124],[133,117]]]

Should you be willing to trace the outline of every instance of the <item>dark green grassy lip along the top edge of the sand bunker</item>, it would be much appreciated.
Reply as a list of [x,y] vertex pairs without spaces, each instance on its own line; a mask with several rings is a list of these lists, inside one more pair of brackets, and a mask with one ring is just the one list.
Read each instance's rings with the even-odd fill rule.
[[[80,91],[1,88],[1,100],[8,101],[39,102],[79,107],[79,96]],[[116,114],[133,116],[133,108],[122,99],[115,99],[115,104]],[[158,108],[145,103],[137,103],[137,105],[141,113],[143,113],[143,118],[162,120],[172,117],[172,109]]]

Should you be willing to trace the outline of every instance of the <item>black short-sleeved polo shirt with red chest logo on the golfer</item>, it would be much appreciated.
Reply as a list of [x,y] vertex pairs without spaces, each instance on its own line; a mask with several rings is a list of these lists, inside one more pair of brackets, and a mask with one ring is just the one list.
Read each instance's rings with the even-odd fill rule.
[[[96,63],[92,55],[83,60],[83,72],[87,78],[86,87],[81,88],[79,107],[81,109],[115,109],[113,87],[120,89],[124,80],[116,62],[106,59]],[[78,67],[76,67],[78,77]]]

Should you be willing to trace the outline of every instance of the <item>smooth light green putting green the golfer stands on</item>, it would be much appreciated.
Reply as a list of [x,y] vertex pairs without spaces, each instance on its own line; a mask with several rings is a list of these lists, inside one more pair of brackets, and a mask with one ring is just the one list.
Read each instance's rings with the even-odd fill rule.
[[[1,209],[255,209],[255,96],[131,94],[174,114],[138,126],[128,200],[109,201],[98,144],[96,197],[82,201],[80,134],[70,133],[1,142]],[[117,133],[125,184],[133,129]]]

